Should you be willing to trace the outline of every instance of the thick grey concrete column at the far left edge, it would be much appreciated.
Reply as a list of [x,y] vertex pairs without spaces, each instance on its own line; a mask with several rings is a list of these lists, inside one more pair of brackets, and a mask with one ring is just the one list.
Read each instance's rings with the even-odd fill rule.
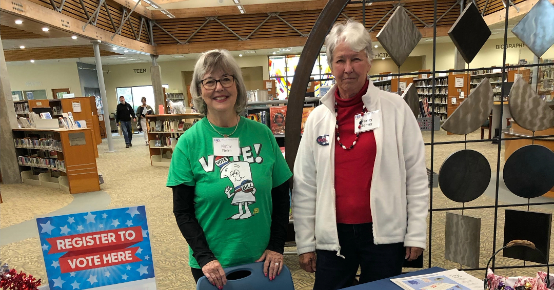
[[8,68],[0,38],[0,173],[4,184],[21,183],[16,147],[12,128],[17,128],[16,108],[13,106],[12,88],[9,85]]

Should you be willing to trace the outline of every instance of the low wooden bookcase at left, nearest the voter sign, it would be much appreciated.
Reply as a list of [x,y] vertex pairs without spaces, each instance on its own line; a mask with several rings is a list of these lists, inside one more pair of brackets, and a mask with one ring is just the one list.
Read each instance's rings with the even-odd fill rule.
[[[13,129],[13,137],[23,183],[60,188],[70,194],[100,190],[93,150],[96,148],[96,143],[90,128],[74,130],[21,128]],[[60,146],[45,148],[29,143],[22,146],[21,143],[16,142],[16,139],[24,138],[58,140]],[[33,156],[55,159],[64,162],[64,165],[44,166],[35,162],[23,163],[20,158]]]

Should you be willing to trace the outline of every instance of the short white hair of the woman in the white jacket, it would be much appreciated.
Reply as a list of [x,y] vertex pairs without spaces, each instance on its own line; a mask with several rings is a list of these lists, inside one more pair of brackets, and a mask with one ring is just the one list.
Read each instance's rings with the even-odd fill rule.
[[329,68],[333,67],[333,51],[337,44],[341,42],[346,42],[353,51],[364,50],[367,54],[367,61],[371,61],[373,56],[375,56],[373,54],[370,33],[360,22],[348,19],[346,23],[339,22],[333,25],[331,32],[325,38]]

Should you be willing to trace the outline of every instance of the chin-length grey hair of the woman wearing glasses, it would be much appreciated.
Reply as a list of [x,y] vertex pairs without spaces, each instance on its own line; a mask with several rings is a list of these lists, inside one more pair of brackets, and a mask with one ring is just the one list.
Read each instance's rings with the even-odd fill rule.
[[235,77],[235,85],[237,86],[237,101],[235,102],[235,112],[242,115],[244,108],[246,107],[248,98],[246,93],[246,86],[244,86],[244,79],[242,71],[237,61],[233,58],[233,55],[225,49],[213,49],[204,51],[196,61],[194,65],[194,73],[192,74],[191,82],[191,97],[194,107],[198,110],[198,113],[206,115],[208,109],[206,102],[202,100],[201,80],[207,73],[213,73],[218,71],[224,74],[232,74]]

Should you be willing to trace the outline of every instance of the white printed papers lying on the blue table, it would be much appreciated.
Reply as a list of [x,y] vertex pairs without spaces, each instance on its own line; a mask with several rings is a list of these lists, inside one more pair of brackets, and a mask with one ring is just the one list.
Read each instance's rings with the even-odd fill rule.
[[483,281],[457,269],[391,279],[404,290],[483,290]]

